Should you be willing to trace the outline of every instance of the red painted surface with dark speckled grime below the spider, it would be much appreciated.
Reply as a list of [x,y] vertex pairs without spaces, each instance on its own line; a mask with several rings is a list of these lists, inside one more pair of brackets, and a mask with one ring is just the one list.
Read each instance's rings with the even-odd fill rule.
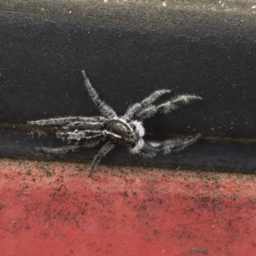
[[256,177],[0,161],[0,255],[256,255]]

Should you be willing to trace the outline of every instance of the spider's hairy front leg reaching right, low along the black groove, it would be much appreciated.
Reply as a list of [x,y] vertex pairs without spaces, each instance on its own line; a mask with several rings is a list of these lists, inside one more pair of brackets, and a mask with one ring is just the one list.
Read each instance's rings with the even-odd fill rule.
[[[172,140],[165,140],[162,142],[147,142],[145,144],[148,144],[151,147],[155,148],[155,150],[158,152],[169,154],[172,152],[181,151],[184,148],[189,147],[189,145],[198,141],[200,137],[201,133],[198,133],[195,135],[195,137],[185,137],[183,139],[176,138]],[[150,150],[152,150],[152,148]]]

